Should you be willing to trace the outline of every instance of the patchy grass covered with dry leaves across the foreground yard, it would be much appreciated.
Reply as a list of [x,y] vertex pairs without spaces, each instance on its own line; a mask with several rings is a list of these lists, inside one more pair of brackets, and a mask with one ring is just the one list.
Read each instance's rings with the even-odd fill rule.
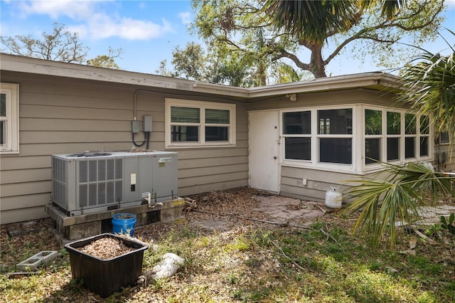
[[[257,207],[259,192],[242,188],[193,196],[196,211],[180,224],[155,223],[135,236],[150,243],[143,272],[165,252],[186,264],[168,279],[149,280],[102,299],[71,279],[68,254],[50,232],[50,220],[38,220],[36,233],[9,238],[1,226],[1,272],[41,250],[60,250],[52,265],[36,275],[0,277],[1,302],[454,302],[454,237],[443,230],[436,245],[417,241],[416,255],[401,235],[397,250],[370,250],[362,235],[350,235],[353,218],[327,213],[308,223],[274,225]],[[198,212],[204,211],[204,213]],[[224,213],[235,216],[215,216]],[[255,218],[257,220],[247,220]],[[204,220],[223,220],[230,229],[201,228]],[[301,225],[301,228],[296,227]]]

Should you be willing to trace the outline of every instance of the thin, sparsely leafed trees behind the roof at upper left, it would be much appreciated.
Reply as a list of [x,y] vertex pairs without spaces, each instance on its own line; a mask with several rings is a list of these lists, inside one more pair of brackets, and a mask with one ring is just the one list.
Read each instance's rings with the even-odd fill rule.
[[[119,67],[114,62],[114,58],[119,57],[123,51],[109,48],[109,55],[98,55],[86,60],[90,49],[80,42],[77,33],[65,30],[65,25],[60,23],[53,23],[53,32],[43,32],[41,38],[33,38],[31,35],[0,36],[0,41],[2,46],[14,55],[66,63],[87,63],[87,65],[115,69]],[[2,51],[4,51],[3,47]]]

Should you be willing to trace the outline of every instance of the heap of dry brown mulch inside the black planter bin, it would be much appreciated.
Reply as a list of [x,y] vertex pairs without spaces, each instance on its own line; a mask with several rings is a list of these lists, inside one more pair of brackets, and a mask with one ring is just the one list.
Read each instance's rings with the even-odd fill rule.
[[122,240],[113,238],[101,238],[76,249],[85,252],[87,255],[91,255],[93,257],[99,257],[100,259],[110,259],[112,257],[118,257],[124,253],[131,252],[136,248],[129,248],[123,243]]

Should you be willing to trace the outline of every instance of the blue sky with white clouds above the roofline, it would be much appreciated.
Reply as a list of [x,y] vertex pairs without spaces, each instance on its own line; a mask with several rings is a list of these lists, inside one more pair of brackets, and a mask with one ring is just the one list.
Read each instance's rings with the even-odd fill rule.
[[[155,73],[161,60],[170,63],[176,46],[184,48],[188,41],[197,41],[188,33],[193,20],[190,1],[16,1],[0,2],[1,36],[51,33],[53,23],[63,23],[79,34],[80,41],[90,48],[88,58],[108,53],[108,48],[122,48],[116,62],[122,70]],[[447,0],[444,27],[455,31],[455,0]],[[445,31],[445,38],[451,36]],[[451,42],[453,43],[453,42]],[[447,49],[442,38],[422,46],[437,53]],[[3,46],[2,46],[3,48]],[[169,66],[169,65],[168,65]],[[365,58],[365,62],[338,57],[327,68],[328,75],[363,73],[381,70]]]

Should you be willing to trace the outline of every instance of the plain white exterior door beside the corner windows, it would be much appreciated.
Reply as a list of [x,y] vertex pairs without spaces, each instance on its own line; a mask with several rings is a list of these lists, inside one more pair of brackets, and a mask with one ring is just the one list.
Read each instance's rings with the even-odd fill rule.
[[278,111],[249,112],[250,187],[279,193]]

